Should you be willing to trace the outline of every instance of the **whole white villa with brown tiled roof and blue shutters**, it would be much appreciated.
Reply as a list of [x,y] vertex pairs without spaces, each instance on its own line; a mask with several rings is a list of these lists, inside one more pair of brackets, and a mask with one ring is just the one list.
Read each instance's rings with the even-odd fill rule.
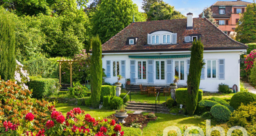
[[248,48],[218,29],[206,18],[133,22],[102,45],[106,82],[117,82],[117,75],[131,84],[169,85],[173,76],[187,86],[192,41],[204,45],[206,63],[201,72],[200,89],[217,92],[218,84],[240,84],[240,55]]

